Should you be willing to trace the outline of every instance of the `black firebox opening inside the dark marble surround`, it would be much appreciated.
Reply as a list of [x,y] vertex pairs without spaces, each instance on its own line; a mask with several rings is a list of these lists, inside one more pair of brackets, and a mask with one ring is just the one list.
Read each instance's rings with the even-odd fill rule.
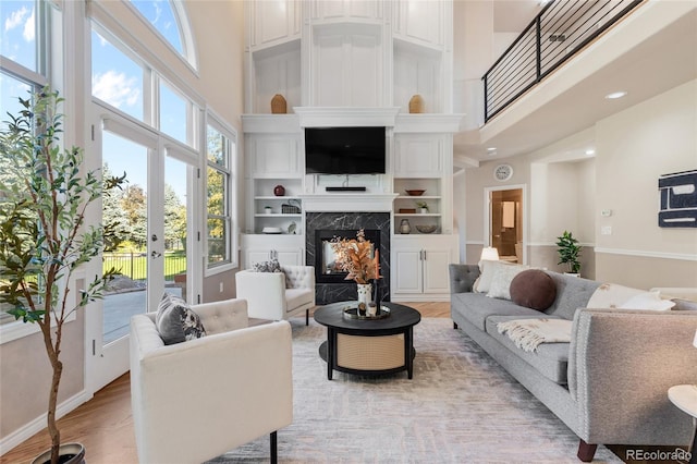
[[[375,251],[380,249],[380,231],[377,229],[364,229],[365,237],[370,242],[370,258],[375,257]],[[347,272],[337,268],[335,253],[331,247],[334,239],[355,239],[358,231],[352,230],[328,230],[318,229],[315,231],[315,283],[344,283],[353,281],[346,280]]]

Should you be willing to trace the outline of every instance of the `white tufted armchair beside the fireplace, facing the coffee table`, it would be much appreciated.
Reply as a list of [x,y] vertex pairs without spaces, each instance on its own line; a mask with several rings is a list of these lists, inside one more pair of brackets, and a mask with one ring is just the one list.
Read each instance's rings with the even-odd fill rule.
[[237,297],[247,301],[249,317],[282,320],[315,306],[315,268],[281,266],[282,272],[242,270],[235,274]]

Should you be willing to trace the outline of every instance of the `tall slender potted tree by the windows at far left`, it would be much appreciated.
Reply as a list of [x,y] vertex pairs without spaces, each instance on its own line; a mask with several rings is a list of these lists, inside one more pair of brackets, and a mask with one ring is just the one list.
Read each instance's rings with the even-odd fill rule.
[[[117,270],[96,277],[76,298],[69,282],[108,240],[108,228],[85,223],[88,205],[120,187],[125,174],[100,180],[94,171],[82,172],[82,149],[60,146],[63,115],[58,107],[63,99],[58,91],[44,88],[19,100],[23,109],[8,113],[10,121],[0,127],[0,303],[16,319],[39,327],[52,369],[47,410],[51,449],[35,462],[48,462],[49,455],[52,464],[83,462],[84,448],[61,445],[57,426],[63,325],[101,297]],[[71,461],[63,453],[76,456]]]

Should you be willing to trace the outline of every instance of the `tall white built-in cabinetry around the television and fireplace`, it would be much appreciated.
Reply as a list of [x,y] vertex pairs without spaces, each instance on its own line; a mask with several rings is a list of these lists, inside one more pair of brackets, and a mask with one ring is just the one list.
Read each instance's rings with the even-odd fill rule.
[[[302,264],[305,209],[390,211],[392,294],[447,300],[447,265],[457,256],[452,134],[462,120],[452,114],[452,0],[256,0],[245,9],[245,266],[274,254]],[[277,94],[288,114],[271,114]],[[424,110],[409,114],[416,94]],[[303,127],[335,125],[386,126],[387,172],[306,175]],[[276,185],[284,195],[274,194]],[[347,207],[327,192],[356,185],[367,191],[351,193],[359,202],[340,195],[352,199]],[[400,234],[402,221],[409,234]],[[419,232],[423,225],[436,230]]]

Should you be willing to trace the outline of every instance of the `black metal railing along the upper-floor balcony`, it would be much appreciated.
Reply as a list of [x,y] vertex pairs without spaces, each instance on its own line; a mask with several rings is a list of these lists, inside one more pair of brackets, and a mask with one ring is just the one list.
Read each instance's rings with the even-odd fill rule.
[[488,122],[644,0],[552,0],[484,75]]

